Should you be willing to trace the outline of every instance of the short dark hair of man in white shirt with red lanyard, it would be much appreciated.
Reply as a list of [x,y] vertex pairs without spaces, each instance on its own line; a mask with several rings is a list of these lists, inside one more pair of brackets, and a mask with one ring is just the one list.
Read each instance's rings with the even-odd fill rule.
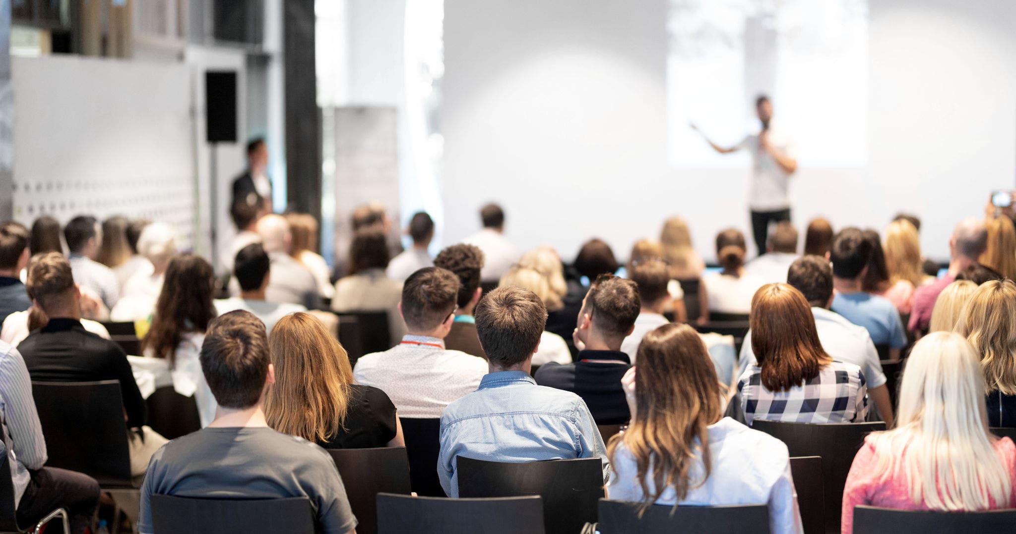
[[402,285],[402,318],[406,326],[433,330],[455,312],[458,277],[448,269],[424,267]]

